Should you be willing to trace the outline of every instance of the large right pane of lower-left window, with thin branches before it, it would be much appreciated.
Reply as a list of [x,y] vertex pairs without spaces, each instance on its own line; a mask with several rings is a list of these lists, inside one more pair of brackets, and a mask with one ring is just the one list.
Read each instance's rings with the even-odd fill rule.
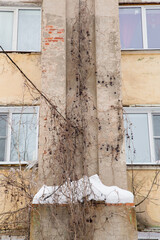
[[36,159],[36,114],[13,114],[11,136],[11,161]]

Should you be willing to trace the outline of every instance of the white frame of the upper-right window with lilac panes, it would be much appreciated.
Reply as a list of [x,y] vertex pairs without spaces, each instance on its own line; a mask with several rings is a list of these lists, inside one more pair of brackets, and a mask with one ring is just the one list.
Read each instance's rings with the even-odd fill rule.
[[142,48],[124,48],[122,51],[130,51],[130,50],[157,50],[159,48],[149,48],[148,47],[148,39],[147,39],[147,19],[146,19],[146,10],[150,9],[160,9],[160,5],[130,5],[130,6],[119,6],[119,8],[141,8],[141,20],[142,20]]

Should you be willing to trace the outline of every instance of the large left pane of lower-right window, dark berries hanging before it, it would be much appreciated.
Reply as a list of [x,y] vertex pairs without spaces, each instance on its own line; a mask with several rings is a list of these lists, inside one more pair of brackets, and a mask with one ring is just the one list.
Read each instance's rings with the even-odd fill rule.
[[150,162],[147,114],[125,114],[127,163]]

